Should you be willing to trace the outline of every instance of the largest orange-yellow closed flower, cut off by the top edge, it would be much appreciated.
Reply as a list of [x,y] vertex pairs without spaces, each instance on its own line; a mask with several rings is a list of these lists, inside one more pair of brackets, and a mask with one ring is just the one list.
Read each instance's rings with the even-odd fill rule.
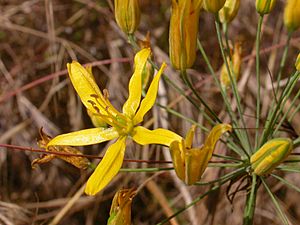
[[195,62],[201,6],[202,0],[172,0],[169,55],[176,69],[185,70]]

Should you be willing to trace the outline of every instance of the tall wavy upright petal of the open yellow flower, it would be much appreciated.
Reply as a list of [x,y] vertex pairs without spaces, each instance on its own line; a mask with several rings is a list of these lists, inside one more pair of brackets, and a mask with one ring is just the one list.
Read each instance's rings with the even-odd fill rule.
[[150,53],[150,48],[144,48],[134,57],[135,70],[129,82],[129,96],[123,106],[123,113],[129,118],[133,118],[140,105],[142,95],[142,73]]

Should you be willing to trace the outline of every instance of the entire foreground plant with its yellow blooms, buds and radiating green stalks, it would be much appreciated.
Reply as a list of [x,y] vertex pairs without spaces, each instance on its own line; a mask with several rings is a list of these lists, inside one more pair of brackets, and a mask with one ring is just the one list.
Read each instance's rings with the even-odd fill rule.
[[[87,109],[95,128],[84,129],[76,132],[62,134],[50,138],[41,130],[39,145],[49,152],[72,153],[72,156],[59,156],[50,154],[44,158],[36,159],[32,166],[45,163],[54,157],[61,158],[80,169],[94,169],[85,187],[85,193],[95,195],[102,191],[116,176],[122,167],[126,140],[131,139],[137,145],[163,145],[170,151],[173,169],[178,178],[186,185],[203,185],[201,177],[206,168],[212,166],[211,158],[222,159],[221,163],[213,163],[215,167],[222,167],[225,175],[207,184],[209,191],[202,193],[191,204],[182,206],[173,216],[166,218],[160,224],[166,223],[172,217],[193,206],[209,193],[241,180],[247,180],[246,188],[235,191],[245,192],[245,208],[243,224],[253,224],[255,214],[256,195],[259,188],[265,188],[278,212],[278,217],[283,224],[289,224],[289,219],[281,209],[276,198],[268,186],[268,177],[272,176],[299,192],[300,188],[287,181],[277,171],[300,171],[299,158],[293,155],[293,150],[299,145],[299,130],[295,135],[282,131],[285,121],[293,121],[293,117],[299,114],[300,91],[296,90],[296,84],[300,77],[300,54],[294,57],[290,68],[292,74],[286,74],[284,67],[291,37],[300,26],[300,1],[287,0],[283,12],[283,22],[287,31],[287,41],[281,58],[280,68],[273,76],[274,84],[281,83],[282,76],[285,77],[284,85],[274,85],[274,98],[270,105],[267,118],[261,120],[261,77],[260,77],[260,42],[262,23],[266,14],[271,14],[276,6],[275,0],[256,0],[255,7],[258,17],[256,38],[256,76],[257,96],[254,132],[249,132],[244,121],[244,105],[238,90],[238,82],[242,65],[242,41],[228,39],[228,30],[231,22],[238,13],[240,0],[172,0],[171,17],[169,26],[169,58],[174,69],[178,70],[181,79],[193,94],[193,98],[179,93],[187,98],[191,104],[198,106],[199,113],[207,120],[206,127],[193,122],[190,130],[184,137],[181,132],[166,128],[148,129],[144,126],[144,116],[156,104],[157,92],[160,79],[163,78],[167,84],[175,86],[167,76],[164,75],[166,63],[157,65],[151,59],[150,38],[138,42],[134,36],[138,29],[141,11],[138,0],[115,0],[115,19],[120,29],[128,35],[132,44],[134,57],[134,72],[128,85],[128,99],[123,105],[122,111],[118,111],[110,102],[108,92],[100,90],[94,79],[92,68],[83,67],[79,62],[73,61],[67,64],[68,73],[72,85],[79,95],[82,103]],[[218,37],[219,50],[222,53],[224,64],[220,73],[213,69],[205,49],[198,39],[198,25],[200,13],[210,13],[215,19],[215,30]],[[139,44],[138,44],[139,43]],[[142,44],[140,44],[142,43]],[[199,56],[196,54],[199,50]],[[191,68],[195,60],[204,60],[213,77],[216,87],[219,89],[224,102],[224,108],[230,122],[224,123],[214,112],[208,102],[201,97],[201,92],[195,89],[192,80],[188,76],[187,69]],[[294,66],[295,65],[295,66]],[[151,71],[156,71],[151,75]],[[231,97],[236,103],[236,108],[231,104]],[[196,99],[196,100],[195,100]],[[292,104],[287,106],[287,101]],[[199,108],[199,104],[201,107]],[[163,107],[158,105],[158,107]],[[296,108],[296,109],[295,109]],[[180,115],[179,113],[174,115]],[[182,115],[181,115],[182,116]],[[183,117],[182,117],[183,118]],[[192,121],[192,119],[190,119]],[[196,129],[200,128],[206,132],[206,138],[201,146],[194,146],[193,139]],[[227,153],[224,155],[213,154],[217,142],[222,138]],[[100,163],[94,166],[85,157],[77,157],[81,152],[74,146],[86,146],[99,144],[109,140],[115,140],[111,144]],[[292,166],[293,169],[292,169]],[[298,168],[298,169],[295,169]],[[159,170],[158,170],[159,171]],[[228,196],[233,200],[234,194]],[[134,187],[128,187],[116,192],[113,199],[108,224],[130,225],[131,205],[134,204],[134,196],[138,191]]]

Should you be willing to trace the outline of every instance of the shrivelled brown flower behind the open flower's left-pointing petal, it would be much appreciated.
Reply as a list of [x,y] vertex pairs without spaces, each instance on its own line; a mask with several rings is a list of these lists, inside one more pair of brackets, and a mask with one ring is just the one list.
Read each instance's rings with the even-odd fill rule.
[[[36,168],[36,165],[50,162],[55,158],[62,159],[67,163],[70,163],[73,166],[77,167],[78,169],[85,170],[88,168],[90,161],[86,157],[80,156],[82,155],[82,153],[78,149],[72,148],[70,146],[50,146],[49,148],[47,148],[46,146],[52,138],[49,135],[47,135],[42,128],[40,129],[40,137],[41,140],[38,141],[38,146],[40,148],[46,149],[46,152],[53,152],[54,154],[45,154],[42,155],[40,158],[34,159],[31,162],[31,167],[33,169]],[[55,154],[56,152],[65,154],[76,154],[78,156],[59,155]]]

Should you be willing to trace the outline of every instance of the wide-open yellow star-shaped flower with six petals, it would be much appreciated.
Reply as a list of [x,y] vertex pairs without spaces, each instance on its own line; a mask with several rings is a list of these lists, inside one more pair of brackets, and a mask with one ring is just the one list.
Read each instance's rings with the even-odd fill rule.
[[94,195],[102,190],[118,173],[124,159],[128,137],[141,145],[161,144],[166,146],[169,146],[173,140],[181,139],[179,135],[165,129],[148,130],[138,125],[155,103],[159,79],[166,66],[163,63],[142,100],[142,72],[150,53],[150,49],[145,48],[135,56],[135,71],[129,82],[129,96],[123,105],[122,112],[115,109],[109,102],[107,91],[104,91],[104,94],[101,93],[90,72],[78,62],[67,65],[70,79],[82,103],[91,114],[109,126],[59,135],[52,139],[47,147],[52,145],[92,145],[117,138],[117,141],[108,147],[104,158],[89,178],[85,189],[88,195]]

